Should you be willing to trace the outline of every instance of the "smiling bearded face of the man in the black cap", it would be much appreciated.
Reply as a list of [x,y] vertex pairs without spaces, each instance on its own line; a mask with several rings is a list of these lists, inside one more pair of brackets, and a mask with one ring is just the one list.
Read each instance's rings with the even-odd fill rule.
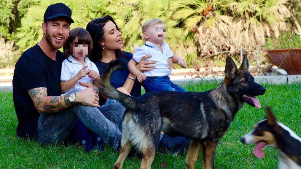
[[53,49],[61,48],[69,36],[70,24],[63,18],[51,20],[42,24],[47,43]]

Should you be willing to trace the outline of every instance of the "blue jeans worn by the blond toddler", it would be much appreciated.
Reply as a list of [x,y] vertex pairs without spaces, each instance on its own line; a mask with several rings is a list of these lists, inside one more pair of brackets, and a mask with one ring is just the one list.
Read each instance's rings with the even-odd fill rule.
[[151,91],[182,91],[186,92],[185,89],[181,88],[177,84],[172,83],[169,80],[169,76],[156,76],[147,77],[144,80],[145,92]]

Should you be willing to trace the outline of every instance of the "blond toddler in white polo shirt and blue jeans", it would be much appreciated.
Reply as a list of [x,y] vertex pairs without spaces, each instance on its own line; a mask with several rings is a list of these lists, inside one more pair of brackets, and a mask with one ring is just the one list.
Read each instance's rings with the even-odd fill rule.
[[[144,89],[150,91],[186,91],[169,80],[171,70],[168,66],[168,58],[172,58],[173,63],[178,63],[185,68],[186,63],[180,57],[172,53],[167,43],[163,42],[166,38],[165,25],[160,19],[148,20],[142,26],[142,33],[145,45],[136,48],[132,60],[129,61],[129,70],[137,76],[139,82],[144,81]],[[156,61],[151,71],[140,72],[136,65],[145,55],[152,55],[147,60]]]

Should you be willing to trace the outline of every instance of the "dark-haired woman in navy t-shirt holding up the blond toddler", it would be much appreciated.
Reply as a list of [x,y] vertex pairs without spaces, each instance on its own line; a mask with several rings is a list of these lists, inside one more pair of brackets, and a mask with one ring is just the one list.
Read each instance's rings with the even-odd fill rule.
[[[99,69],[99,74],[101,75],[104,68],[107,67],[108,63],[117,58],[125,58],[126,60],[132,59],[132,54],[129,52],[121,51],[123,47],[121,40],[121,32],[113,18],[109,15],[106,15],[102,18],[97,18],[88,23],[86,29],[90,33],[93,39],[93,49],[91,53],[91,61]],[[146,58],[151,56],[145,56],[140,63],[137,64],[137,69],[139,71],[151,70],[154,66],[154,61],[145,61]],[[169,64],[171,65],[171,64]],[[111,82],[113,86],[125,93],[130,94],[134,97],[141,95],[141,84],[138,81],[135,81],[136,76],[126,71],[116,71],[112,75]],[[115,100],[107,100],[108,98],[103,97],[100,101],[100,105],[108,102],[115,102]],[[160,144],[163,150],[169,150],[173,153],[177,153],[183,150],[190,140],[185,137],[169,137],[166,134],[162,134],[160,137]]]

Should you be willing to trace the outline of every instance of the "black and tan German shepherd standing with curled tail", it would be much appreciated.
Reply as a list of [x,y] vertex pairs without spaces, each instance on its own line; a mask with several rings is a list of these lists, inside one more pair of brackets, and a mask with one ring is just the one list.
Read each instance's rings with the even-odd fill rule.
[[239,69],[227,57],[225,78],[217,88],[203,93],[156,91],[131,97],[117,91],[110,83],[115,70],[125,70],[127,64],[113,61],[103,72],[100,90],[127,108],[123,119],[121,149],[114,169],[121,169],[123,161],[135,146],[143,158],[141,169],[150,169],[158,147],[160,131],[191,139],[185,165],[189,169],[203,148],[203,168],[214,168],[216,146],[244,102],[261,108],[254,96],[265,93],[265,88],[254,82],[248,72],[245,56]]

